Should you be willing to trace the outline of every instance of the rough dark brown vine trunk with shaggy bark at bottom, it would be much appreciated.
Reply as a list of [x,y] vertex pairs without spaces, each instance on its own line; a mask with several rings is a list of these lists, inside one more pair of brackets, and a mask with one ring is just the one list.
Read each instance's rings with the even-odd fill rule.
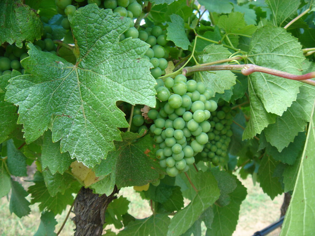
[[105,211],[109,203],[117,198],[119,189],[115,186],[111,195],[93,194],[89,188],[82,187],[74,202],[72,220],[76,224],[75,236],[100,236],[105,222]]

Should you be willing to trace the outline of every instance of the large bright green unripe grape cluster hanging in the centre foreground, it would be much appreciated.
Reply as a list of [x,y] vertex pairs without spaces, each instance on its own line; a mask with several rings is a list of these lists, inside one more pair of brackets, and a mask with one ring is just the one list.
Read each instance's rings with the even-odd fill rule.
[[160,166],[169,176],[187,171],[194,156],[203,151],[211,129],[210,112],[217,108],[210,100],[213,90],[202,82],[188,80],[184,75],[157,79],[157,106],[148,112],[154,121],[150,127]]

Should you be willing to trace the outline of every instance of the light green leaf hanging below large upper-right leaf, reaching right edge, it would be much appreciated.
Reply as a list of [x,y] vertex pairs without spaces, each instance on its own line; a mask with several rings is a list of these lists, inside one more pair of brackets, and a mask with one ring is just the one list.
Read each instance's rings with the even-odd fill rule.
[[[265,129],[266,140],[275,146],[279,152],[293,142],[295,136],[305,130],[312,112],[312,102],[315,99],[315,87],[303,84],[296,101],[283,113],[277,116],[276,122]],[[281,138],[279,138],[281,137]]]

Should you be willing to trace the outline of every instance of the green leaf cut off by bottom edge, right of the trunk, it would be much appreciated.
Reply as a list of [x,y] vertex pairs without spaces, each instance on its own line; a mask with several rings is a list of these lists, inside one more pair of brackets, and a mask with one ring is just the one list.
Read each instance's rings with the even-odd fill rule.
[[167,214],[156,214],[130,222],[118,236],[166,236],[169,225]]

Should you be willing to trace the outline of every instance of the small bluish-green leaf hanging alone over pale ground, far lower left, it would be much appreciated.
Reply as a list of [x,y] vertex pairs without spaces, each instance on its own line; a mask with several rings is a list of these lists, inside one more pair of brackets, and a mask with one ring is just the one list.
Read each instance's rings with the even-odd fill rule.
[[24,190],[22,185],[17,182],[11,180],[11,199],[10,199],[10,212],[12,212],[17,215],[18,217],[26,216],[31,212],[31,209],[29,207],[30,202],[25,199],[25,197],[28,195],[28,193]]

